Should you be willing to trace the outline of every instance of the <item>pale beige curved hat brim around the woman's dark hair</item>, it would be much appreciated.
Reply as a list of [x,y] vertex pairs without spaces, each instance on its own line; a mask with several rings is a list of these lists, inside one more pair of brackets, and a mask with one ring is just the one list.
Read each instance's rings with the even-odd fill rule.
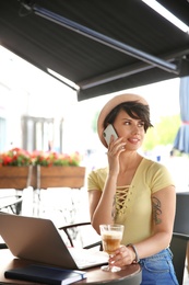
[[117,95],[113,99],[110,99],[105,106],[102,109],[98,119],[97,119],[97,133],[98,137],[102,141],[102,144],[108,148],[106,140],[104,139],[103,132],[104,132],[104,121],[106,116],[110,113],[113,109],[115,109],[117,105],[123,103],[123,102],[130,102],[130,101],[138,101],[139,103],[142,103],[144,105],[149,105],[149,103],[145,101],[144,98],[137,95],[137,94],[130,94],[130,93],[125,93],[121,95]]

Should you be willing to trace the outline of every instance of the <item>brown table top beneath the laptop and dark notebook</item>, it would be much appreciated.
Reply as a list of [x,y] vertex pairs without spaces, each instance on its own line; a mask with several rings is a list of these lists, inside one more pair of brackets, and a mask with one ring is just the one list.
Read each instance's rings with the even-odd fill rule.
[[[17,284],[17,285],[34,285],[40,283],[33,283],[26,281],[16,281],[4,278],[4,271],[8,269],[24,266],[32,261],[16,259],[12,255],[9,249],[0,250],[0,284]],[[103,272],[99,266],[85,270],[87,278],[76,282],[74,284],[118,284],[118,285],[139,285],[142,280],[141,267],[139,264],[131,264],[123,266],[121,271],[116,273]]]

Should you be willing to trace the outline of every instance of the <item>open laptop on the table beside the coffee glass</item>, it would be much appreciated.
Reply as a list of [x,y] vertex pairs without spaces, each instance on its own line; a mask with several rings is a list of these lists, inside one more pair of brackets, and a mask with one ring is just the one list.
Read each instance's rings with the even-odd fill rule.
[[68,248],[50,219],[0,213],[0,235],[20,259],[84,270],[107,263],[102,251]]

